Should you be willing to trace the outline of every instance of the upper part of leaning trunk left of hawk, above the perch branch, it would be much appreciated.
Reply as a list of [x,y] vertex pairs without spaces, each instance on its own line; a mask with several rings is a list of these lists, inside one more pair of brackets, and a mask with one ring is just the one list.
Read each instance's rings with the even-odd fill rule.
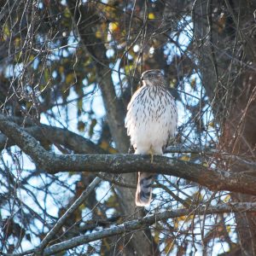
[[[106,55],[106,47],[101,38],[96,38],[95,31],[101,22],[101,17],[96,13],[97,3],[78,4],[75,0],[68,0],[67,6],[78,28],[81,43],[93,58],[96,67],[96,79],[102,91],[102,100],[106,108],[109,129],[119,152],[125,153],[129,148],[129,137],[125,129],[125,106],[116,96],[109,60]],[[81,20],[86,20],[84,26]]]

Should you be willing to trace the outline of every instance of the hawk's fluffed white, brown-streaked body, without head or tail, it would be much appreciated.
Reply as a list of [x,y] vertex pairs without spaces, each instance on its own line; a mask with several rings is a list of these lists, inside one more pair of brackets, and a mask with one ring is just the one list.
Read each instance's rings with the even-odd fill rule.
[[[155,90],[164,90],[164,93],[155,93]],[[127,110],[125,127],[135,154],[148,154],[150,150],[153,154],[162,154],[162,148],[177,127],[177,108],[171,93],[143,85],[131,97]]]

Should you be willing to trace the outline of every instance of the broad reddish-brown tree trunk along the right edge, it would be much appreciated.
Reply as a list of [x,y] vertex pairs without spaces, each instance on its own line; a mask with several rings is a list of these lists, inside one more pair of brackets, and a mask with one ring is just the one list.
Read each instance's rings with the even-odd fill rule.
[[[215,117],[223,127],[219,148],[255,160],[256,40],[253,11],[256,3],[196,1],[194,8],[195,42],[201,45],[202,82],[212,100]],[[250,170],[241,158],[227,163],[230,172]],[[232,194],[232,200],[253,201],[253,197]],[[255,214],[236,213],[236,224],[241,243],[236,255],[256,255]]]

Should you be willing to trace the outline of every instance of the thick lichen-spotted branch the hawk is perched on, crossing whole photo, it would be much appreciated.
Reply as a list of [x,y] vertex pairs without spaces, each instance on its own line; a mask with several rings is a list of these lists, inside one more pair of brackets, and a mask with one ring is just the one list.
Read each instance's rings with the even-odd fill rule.
[[47,152],[37,140],[15,123],[0,114],[0,130],[15,141],[40,167],[49,173],[57,172],[157,172],[183,177],[213,190],[229,190],[256,195],[256,177],[244,173],[209,170],[205,166],[164,156],[134,154],[63,154]]

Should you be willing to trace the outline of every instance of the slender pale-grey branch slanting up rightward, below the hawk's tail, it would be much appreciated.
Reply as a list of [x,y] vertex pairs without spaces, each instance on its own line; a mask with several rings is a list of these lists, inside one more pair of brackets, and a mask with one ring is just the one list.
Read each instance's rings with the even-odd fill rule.
[[[126,232],[131,232],[132,230],[142,230],[152,224],[155,224],[157,221],[166,220],[168,218],[177,218],[181,216],[189,216],[192,214],[205,215],[224,212],[256,212],[256,203],[227,203],[218,205],[216,207],[202,207],[201,209],[177,209],[175,211],[161,212],[146,216],[144,218],[127,221],[123,224],[119,224],[105,230],[96,231],[89,235],[76,236],[70,240],[62,241],[53,246],[45,248],[44,255],[52,255],[73,247],[78,247],[79,245],[86,244],[90,241],[96,241],[109,236],[125,234]],[[27,254],[32,252],[33,250],[30,250],[25,253]],[[24,255],[24,253],[13,255]]]

